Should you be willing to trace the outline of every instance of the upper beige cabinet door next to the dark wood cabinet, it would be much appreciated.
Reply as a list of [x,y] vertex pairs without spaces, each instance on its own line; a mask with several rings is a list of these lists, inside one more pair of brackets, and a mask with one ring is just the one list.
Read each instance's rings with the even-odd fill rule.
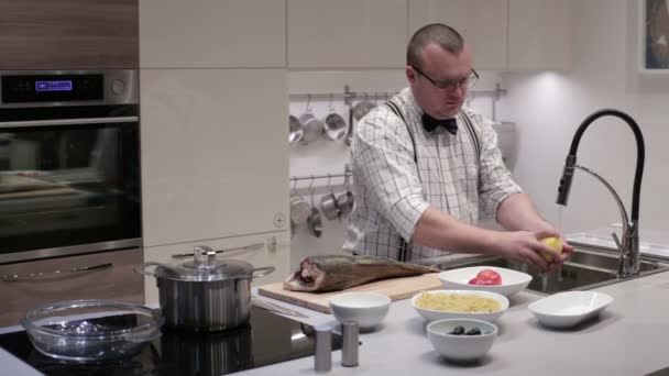
[[141,0],[142,68],[286,66],[286,3]]

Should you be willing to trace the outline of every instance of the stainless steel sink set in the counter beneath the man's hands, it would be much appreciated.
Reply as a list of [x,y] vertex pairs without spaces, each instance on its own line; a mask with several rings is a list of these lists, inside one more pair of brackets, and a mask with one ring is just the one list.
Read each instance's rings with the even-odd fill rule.
[[539,294],[555,294],[568,290],[588,290],[595,287],[640,278],[650,274],[669,270],[669,264],[658,259],[641,257],[640,274],[633,278],[618,278],[618,254],[600,248],[577,247],[569,261],[551,274],[545,276],[539,269],[496,256],[480,256],[436,265],[442,270],[469,266],[498,266],[520,270],[534,278],[528,290]]

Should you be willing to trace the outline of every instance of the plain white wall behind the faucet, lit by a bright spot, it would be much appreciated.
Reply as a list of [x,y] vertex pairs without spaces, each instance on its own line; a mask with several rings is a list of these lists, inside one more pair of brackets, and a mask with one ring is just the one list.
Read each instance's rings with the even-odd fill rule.
[[[637,73],[636,7],[634,0],[574,1],[572,70],[503,75],[509,95],[502,100],[501,113],[517,122],[520,136],[515,176],[545,217],[556,224],[558,180],[574,131],[592,112],[613,108],[632,115],[646,141],[640,226],[669,230],[669,178],[665,167],[669,158],[669,75]],[[632,211],[636,147],[633,133],[623,121],[595,121],[581,139],[578,163],[607,179],[627,211]],[[617,207],[606,189],[584,173],[577,173],[562,214],[563,231],[619,221]]]

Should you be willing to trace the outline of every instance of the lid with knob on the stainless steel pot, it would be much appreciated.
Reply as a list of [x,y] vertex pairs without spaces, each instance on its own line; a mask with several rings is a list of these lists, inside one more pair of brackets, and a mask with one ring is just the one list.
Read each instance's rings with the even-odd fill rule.
[[226,280],[248,278],[253,272],[253,265],[235,259],[218,259],[216,251],[208,246],[195,247],[194,259],[179,266],[161,265],[155,274],[158,277],[175,280]]

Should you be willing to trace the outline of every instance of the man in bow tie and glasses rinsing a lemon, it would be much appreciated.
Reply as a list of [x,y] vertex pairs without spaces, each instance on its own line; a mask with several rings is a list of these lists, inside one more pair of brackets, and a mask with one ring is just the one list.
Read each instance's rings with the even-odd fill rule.
[[[542,270],[562,263],[573,248],[564,243],[558,256],[539,241],[561,236],[512,179],[490,122],[462,108],[479,78],[462,36],[443,24],[420,29],[405,73],[409,87],[353,135],[357,202],[344,250],[401,261],[482,253]],[[480,211],[509,231],[475,226]]]

